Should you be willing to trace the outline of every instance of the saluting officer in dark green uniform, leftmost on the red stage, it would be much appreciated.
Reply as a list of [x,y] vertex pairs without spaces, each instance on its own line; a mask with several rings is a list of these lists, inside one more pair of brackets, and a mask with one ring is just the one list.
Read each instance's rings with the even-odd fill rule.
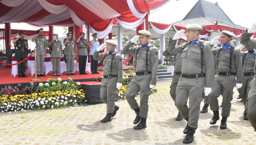
[[[28,46],[27,40],[24,39],[24,37],[25,37],[24,31],[19,32],[19,37],[12,42],[17,46],[17,50],[15,53],[17,62],[20,62],[23,59],[27,58],[27,51],[29,46]],[[26,68],[26,61],[18,64],[18,78],[27,77],[25,74],[25,68]]]

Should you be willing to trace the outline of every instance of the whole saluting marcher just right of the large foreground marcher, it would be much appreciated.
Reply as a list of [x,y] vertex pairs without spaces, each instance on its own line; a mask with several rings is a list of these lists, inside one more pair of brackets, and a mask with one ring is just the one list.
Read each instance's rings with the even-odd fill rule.
[[[210,124],[216,124],[219,120],[218,97],[222,95],[223,107],[221,111],[222,119],[220,129],[227,128],[227,117],[230,115],[231,100],[233,99],[233,89],[236,82],[236,88],[242,86],[242,59],[240,50],[231,46],[230,41],[234,35],[229,31],[221,32],[221,48],[212,49],[213,55],[218,59],[218,74],[215,76],[215,88],[209,95],[210,108],[213,111]],[[216,37],[215,37],[216,38]],[[212,39],[213,41],[217,39]],[[237,78],[237,81],[236,81]]]

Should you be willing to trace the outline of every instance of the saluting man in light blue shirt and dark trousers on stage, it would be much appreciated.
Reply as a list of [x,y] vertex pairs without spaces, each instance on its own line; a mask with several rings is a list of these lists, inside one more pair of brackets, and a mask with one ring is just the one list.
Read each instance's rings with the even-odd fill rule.
[[90,45],[91,45],[91,74],[99,74],[97,69],[98,69],[98,60],[95,60],[93,58],[94,52],[99,48],[99,42],[97,41],[97,33],[94,33],[93,35],[93,40],[91,40]]

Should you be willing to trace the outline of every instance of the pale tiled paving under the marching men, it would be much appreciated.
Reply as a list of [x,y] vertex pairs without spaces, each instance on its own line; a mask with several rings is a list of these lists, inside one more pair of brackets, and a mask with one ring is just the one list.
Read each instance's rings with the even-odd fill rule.
[[[158,92],[149,99],[147,128],[133,130],[135,113],[126,100],[111,122],[101,123],[106,105],[70,107],[0,114],[1,145],[178,145],[185,135],[186,122],[175,121],[177,109],[169,95],[170,82],[157,83]],[[192,145],[254,145],[256,132],[243,120],[244,106],[234,97],[227,129],[220,130],[220,120],[210,125],[212,111],[200,114],[199,127]],[[139,99],[139,97],[137,97]],[[221,97],[219,98],[221,103]],[[201,104],[203,106],[203,102]],[[201,107],[202,108],[202,107]],[[210,107],[208,108],[210,109]],[[221,108],[220,108],[221,111]]]

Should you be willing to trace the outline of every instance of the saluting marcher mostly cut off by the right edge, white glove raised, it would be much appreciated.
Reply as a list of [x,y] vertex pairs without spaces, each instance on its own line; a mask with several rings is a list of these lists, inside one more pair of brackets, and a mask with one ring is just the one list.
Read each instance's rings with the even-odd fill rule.
[[[249,28],[249,30],[246,30],[242,35],[240,43],[243,44],[244,46],[250,46],[255,49],[256,39],[250,38],[252,33],[255,33],[255,32],[256,32],[256,23],[253,23],[252,27]],[[253,73],[256,74],[256,61],[254,63]],[[246,103],[246,109],[247,109],[246,115],[249,121],[251,122],[252,127],[254,128],[254,131],[256,132],[256,111],[255,111],[256,110],[256,75],[254,75],[250,83],[250,86],[251,86],[251,89],[249,91],[247,103]]]

